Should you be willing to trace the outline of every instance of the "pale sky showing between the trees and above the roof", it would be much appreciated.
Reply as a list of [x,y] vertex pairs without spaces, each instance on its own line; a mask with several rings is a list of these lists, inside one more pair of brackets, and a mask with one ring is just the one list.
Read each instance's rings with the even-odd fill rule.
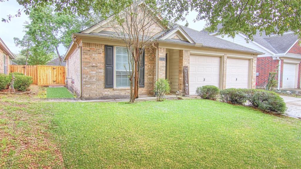
[[[7,15],[14,15],[17,13],[19,9],[22,9],[23,6],[19,5],[15,0],[8,0],[4,2],[0,2],[0,19],[7,19]],[[205,26],[205,21],[194,22],[193,20],[196,18],[197,12],[192,11],[186,17],[189,28],[195,30],[202,30]],[[28,16],[21,13],[20,17],[14,17],[11,19],[11,22],[4,23],[0,20],[0,38],[4,41],[5,45],[13,52],[19,53],[20,48],[15,46],[14,37],[22,39],[25,32],[23,32],[23,25],[25,21],[29,21]],[[180,25],[185,25],[186,21],[178,22]],[[61,55],[65,54],[67,49],[62,45],[58,48]]]

